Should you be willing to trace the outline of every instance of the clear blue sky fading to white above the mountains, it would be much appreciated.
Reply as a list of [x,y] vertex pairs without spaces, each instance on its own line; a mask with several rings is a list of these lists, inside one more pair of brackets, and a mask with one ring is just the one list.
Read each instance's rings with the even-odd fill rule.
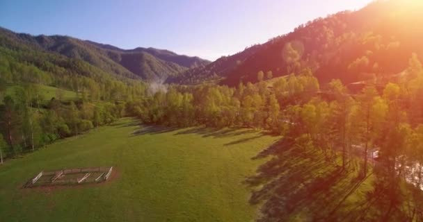
[[0,26],[215,60],[371,0],[0,0]]

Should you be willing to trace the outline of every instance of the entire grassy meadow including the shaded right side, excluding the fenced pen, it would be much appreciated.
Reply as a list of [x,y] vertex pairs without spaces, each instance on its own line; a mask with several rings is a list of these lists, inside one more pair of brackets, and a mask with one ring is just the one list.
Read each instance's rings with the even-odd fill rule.
[[[113,166],[104,185],[20,189],[41,170]],[[0,167],[7,221],[372,221],[373,174],[358,179],[250,129],[138,126],[121,119]],[[398,214],[399,215],[399,214]],[[392,217],[393,221],[401,219]]]

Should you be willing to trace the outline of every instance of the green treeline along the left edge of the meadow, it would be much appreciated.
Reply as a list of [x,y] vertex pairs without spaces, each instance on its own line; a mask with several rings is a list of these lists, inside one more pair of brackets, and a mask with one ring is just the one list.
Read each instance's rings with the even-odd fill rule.
[[125,114],[125,104],[119,102],[40,101],[38,85],[33,84],[15,87],[14,93],[4,96],[0,105],[1,162],[56,139],[86,133]]

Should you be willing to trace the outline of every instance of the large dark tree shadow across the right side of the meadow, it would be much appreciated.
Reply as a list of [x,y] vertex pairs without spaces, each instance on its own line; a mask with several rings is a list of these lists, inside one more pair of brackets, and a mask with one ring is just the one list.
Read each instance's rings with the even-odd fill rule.
[[[320,151],[304,151],[292,139],[281,139],[253,157],[270,157],[254,176],[244,180],[252,188],[250,204],[258,205],[257,221],[358,221],[367,194],[356,194],[366,180],[326,161]],[[354,194],[354,195],[352,195]],[[346,201],[348,199],[348,201]]]

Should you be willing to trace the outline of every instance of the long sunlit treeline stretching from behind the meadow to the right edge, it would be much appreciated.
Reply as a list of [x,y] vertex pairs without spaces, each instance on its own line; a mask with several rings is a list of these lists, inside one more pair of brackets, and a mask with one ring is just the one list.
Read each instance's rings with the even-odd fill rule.
[[[340,80],[321,88],[310,69],[271,81],[263,76],[260,72],[259,83],[237,88],[175,85],[126,108],[145,123],[249,127],[285,135],[291,146],[319,151],[328,164],[355,170],[359,178],[375,169],[392,205],[401,204],[396,202],[404,194],[401,182],[422,185],[423,68],[417,56],[396,83],[369,83],[358,94]],[[378,167],[369,167],[375,157]]]

